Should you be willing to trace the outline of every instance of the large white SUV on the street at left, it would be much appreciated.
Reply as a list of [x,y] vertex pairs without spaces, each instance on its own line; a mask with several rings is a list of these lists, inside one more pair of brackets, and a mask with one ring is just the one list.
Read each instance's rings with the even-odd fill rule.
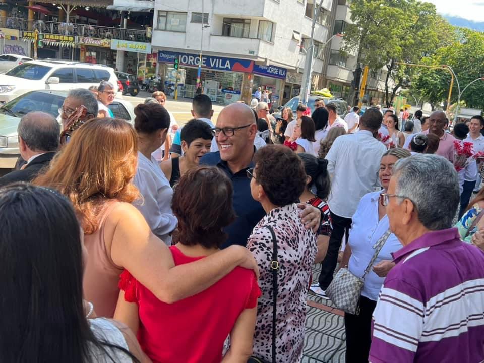
[[123,86],[110,67],[71,61],[28,61],[0,75],[0,102],[32,90],[87,89],[103,80],[111,82],[117,97],[122,97]]

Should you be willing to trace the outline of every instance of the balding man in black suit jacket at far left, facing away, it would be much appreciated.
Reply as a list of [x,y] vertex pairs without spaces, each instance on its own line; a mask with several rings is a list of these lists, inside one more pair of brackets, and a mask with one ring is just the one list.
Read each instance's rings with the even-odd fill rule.
[[18,126],[20,155],[27,164],[22,170],[12,171],[0,177],[0,186],[14,181],[31,181],[41,169],[48,166],[59,147],[60,126],[52,115],[29,112]]

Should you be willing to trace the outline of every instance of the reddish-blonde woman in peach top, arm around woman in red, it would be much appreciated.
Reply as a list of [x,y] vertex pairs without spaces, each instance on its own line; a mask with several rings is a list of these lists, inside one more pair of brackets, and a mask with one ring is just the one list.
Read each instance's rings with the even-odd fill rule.
[[74,206],[89,252],[84,297],[102,317],[114,315],[119,275],[125,268],[159,299],[173,302],[203,291],[237,265],[255,266],[250,252],[241,246],[174,266],[168,247],[132,205],[139,197],[132,183],[137,143],[135,130],[125,120],[90,120],[57,153],[45,174],[34,180],[57,189]]

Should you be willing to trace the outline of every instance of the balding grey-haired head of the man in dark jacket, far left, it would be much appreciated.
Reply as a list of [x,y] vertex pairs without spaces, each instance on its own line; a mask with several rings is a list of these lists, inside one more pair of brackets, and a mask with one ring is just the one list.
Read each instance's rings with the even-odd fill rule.
[[50,152],[59,147],[61,127],[48,113],[29,112],[20,119],[17,133],[31,151]]

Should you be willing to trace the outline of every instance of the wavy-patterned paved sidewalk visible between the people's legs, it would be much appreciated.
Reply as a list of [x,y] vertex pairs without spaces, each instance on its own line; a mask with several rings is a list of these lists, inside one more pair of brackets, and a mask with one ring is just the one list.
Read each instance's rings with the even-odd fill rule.
[[[313,281],[318,281],[321,265],[313,268]],[[303,363],[344,363],[346,335],[343,312],[313,292],[308,292],[308,315]]]

